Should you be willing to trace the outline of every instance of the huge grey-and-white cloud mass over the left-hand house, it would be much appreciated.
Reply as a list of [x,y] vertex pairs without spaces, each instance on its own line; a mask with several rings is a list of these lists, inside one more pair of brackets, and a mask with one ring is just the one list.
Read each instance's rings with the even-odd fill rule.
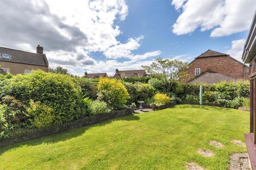
[[[83,75],[85,69],[88,72],[113,72],[117,66],[136,69],[145,63],[136,61],[161,53],[134,55],[132,51],[140,47],[143,36],[129,38],[125,44],[116,39],[122,33],[117,21],[125,20],[128,14],[125,0],[1,2],[0,46],[35,52],[40,44],[53,68],[62,66],[77,75]],[[93,52],[131,61],[97,61],[90,56]]]

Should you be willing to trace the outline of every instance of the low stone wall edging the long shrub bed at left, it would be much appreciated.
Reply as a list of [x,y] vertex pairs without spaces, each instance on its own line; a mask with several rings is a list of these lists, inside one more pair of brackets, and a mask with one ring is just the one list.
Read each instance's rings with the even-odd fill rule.
[[112,111],[109,114],[84,117],[79,120],[63,123],[50,128],[23,129],[22,132],[15,135],[15,137],[0,140],[0,147],[12,145],[20,141],[44,137],[46,135],[54,134],[57,132],[63,132],[63,131],[74,129],[74,128],[81,128],[83,126],[90,125],[93,123],[98,123],[104,120],[108,120],[110,118],[122,117],[126,115],[131,115],[131,114],[132,114],[132,108],[127,108],[120,111]]

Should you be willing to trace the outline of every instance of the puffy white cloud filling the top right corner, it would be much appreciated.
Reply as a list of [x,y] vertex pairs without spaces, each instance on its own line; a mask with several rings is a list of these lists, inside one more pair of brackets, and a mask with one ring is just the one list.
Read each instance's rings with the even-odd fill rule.
[[173,33],[184,35],[201,28],[213,29],[211,37],[228,36],[249,29],[256,1],[248,0],[173,0],[182,13],[173,24]]

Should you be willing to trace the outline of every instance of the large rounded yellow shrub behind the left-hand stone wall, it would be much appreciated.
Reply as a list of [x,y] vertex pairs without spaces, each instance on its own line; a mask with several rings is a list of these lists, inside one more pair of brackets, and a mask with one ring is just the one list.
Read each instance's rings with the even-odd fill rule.
[[103,100],[114,109],[125,107],[128,92],[121,82],[116,79],[101,78],[97,84],[98,99]]

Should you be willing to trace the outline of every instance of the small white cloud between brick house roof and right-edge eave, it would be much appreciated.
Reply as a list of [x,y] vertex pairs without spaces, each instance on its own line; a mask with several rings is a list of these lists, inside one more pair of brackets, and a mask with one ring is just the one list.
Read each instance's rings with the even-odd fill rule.
[[232,46],[230,49],[227,50],[227,54],[229,54],[231,57],[234,57],[238,61],[242,61],[242,54],[243,54],[243,49],[244,49],[244,44],[245,44],[245,39],[238,39],[238,40],[233,40]]

